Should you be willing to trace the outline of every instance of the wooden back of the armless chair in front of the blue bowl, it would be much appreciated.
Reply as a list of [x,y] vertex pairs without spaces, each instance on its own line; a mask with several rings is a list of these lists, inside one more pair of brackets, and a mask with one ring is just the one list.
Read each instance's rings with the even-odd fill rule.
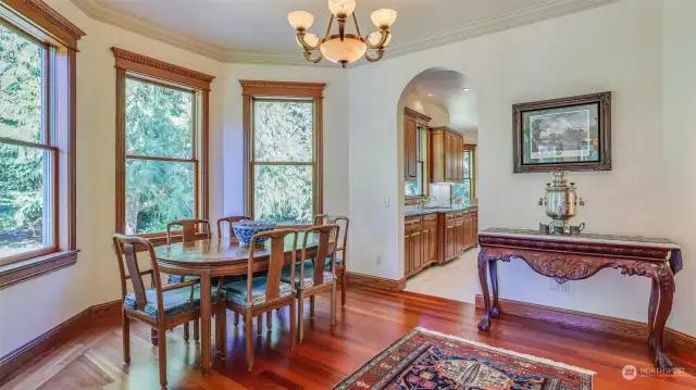
[[[270,303],[281,297],[281,276],[283,274],[283,265],[285,264],[285,248],[288,236],[291,236],[291,279],[295,280],[295,265],[297,264],[297,230],[281,229],[262,231],[251,237],[251,246],[249,247],[249,267],[247,268],[247,304],[251,304],[251,282],[253,277],[253,255],[257,249],[254,242],[258,238],[270,238],[269,253],[269,275],[266,276],[265,303]],[[288,242],[289,243],[289,242]]]

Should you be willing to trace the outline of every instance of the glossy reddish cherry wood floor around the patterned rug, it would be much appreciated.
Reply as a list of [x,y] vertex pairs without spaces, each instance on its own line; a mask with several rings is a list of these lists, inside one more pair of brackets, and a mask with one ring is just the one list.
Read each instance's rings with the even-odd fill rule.
[[[251,340],[256,351],[251,373],[245,364],[244,331],[233,327],[229,315],[227,358],[216,357],[213,374],[206,378],[197,368],[199,344],[192,339],[185,342],[181,327],[167,334],[169,389],[331,389],[417,326],[594,370],[595,389],[696,388],[694,351],[668,349],[685,373],[627,381],[621,375],[623,366],[652,367],[647,341],[563,329],[505,314],[484,334],[476,329],[480,315],[467,303],[350,288],[348,303],[338,310],[333,329],[328,326],[327,295],[316,299],[315,318],[306,322],[304,342],[295,351],[289,349],[287,310],[274,314],[272,331]],[[149,336],[146,326],[132,326],[133,358],[129,366],[124,365],[120,318],[102,319],[79,338],[33,362],[2,389],[159,389],[157,348],[150,344]]]

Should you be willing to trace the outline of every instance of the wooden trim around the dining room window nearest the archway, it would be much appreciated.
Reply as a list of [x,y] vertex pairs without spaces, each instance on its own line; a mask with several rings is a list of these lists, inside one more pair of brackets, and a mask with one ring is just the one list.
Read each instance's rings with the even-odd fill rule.
[[[253,197],[253,164],[251,163],[251,135],[253,121],[251,111],[254,98],[304,98],[311,100],[314,106],[314,186],[312,199],[312,212],[314,214],[323,213],[323,181],[324,181],[324,114],[323,100],[325,83],[296,83],[296,81],[269,81],[269,80],[244,80],[240,79],[241,95],[244,97],[244,210],[246,215],[253,217],[252,197]],[[289,165],[285,164],[284,165]],[[307,165],[302,163],[302,165]],[[296,226],[298,227],[298,226]]]

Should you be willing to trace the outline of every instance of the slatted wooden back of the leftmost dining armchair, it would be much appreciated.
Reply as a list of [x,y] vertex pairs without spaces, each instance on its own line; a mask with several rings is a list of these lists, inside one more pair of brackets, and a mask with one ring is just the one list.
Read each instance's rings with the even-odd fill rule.
[[[162,302],[162,282],[160,280],[160,269],[157,265],[157,256],[154,255],[152,242],[140,237],[114,235],[113,247],[116,251],[119,272],[121,273],[121,299],[124,300],[128,293],[126,280],[130,279],[133,292],[135,293],[136,309],[144,311],[148,300],[145,293],[146,287],[142,281],[142,276],[149,274],[152,278],[152,285],[157,289],[158,302]],[[148,255],[150,256],[150,269],[147,271],[140,271],[136,254],[137,249],[142,247],[147,248]],[[160,315],[159,318],[164,318],[164,309],[162,305],[160,305],[160,310],[162,313],[158,313]]]

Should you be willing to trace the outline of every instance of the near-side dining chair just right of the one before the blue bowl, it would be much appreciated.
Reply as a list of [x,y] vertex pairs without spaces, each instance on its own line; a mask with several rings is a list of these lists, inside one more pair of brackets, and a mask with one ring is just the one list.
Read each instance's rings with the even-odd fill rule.
[[[340,227],[336,224],[319,225],[309,227],[304,230],[302,238],[302,253],[300,263],[296,269],[285,267],[281,280],[291,282],[297,289],[297,326],[299,341],[304,339],[304,299],[309,298],[310,302],[314,297],[323,291],[331,292],[331,326],[336,325],[336,238],[339,235]],[[314,259],[327,259],[328,271],[323,262],[312,262],[307,259],[307,242],[312,238],[312,247],[316,247],[316,256]],[[316,240],[314,242],[314,240]],[[298,273],[299,272],[299,273]],[[311,311],[310,306],[310,311]],[[313,316],[313,313],[310,313]]]

